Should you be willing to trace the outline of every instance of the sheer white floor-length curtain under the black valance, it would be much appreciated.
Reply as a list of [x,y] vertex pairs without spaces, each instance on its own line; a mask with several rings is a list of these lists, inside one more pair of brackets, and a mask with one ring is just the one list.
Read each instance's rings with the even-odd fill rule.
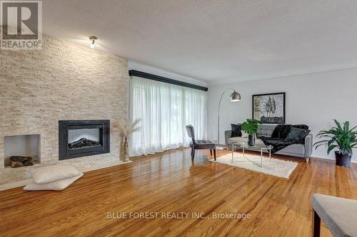
[[197,139],[206,139],[205,91],[145,78],[130,80],[130,121],[141,119],[141,130],[130,138],[131,157],[188,146],[186,125],[193,125]]

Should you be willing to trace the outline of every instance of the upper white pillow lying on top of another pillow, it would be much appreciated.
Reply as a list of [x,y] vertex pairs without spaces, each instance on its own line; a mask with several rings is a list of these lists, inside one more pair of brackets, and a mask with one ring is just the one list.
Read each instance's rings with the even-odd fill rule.
[[82,172],[79,172],[71,164],[56,164],[31,171],[32,179],[36,184],[46,184],[59,179],[77,177],[79,174],[82,174]]

